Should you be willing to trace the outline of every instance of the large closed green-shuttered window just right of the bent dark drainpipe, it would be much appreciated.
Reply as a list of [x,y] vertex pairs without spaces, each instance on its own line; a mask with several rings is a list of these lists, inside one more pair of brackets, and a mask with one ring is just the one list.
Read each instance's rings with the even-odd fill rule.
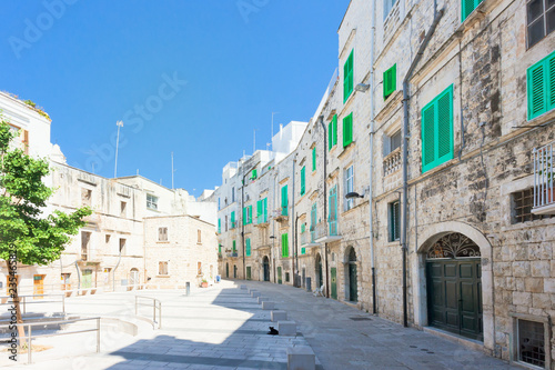
[[453,84],[422,110],[422,172],[453,159]]

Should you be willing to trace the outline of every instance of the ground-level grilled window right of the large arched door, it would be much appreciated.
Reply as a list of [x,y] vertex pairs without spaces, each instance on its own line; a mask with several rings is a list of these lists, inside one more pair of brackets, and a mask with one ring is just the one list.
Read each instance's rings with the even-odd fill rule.
[[[517,319],[517,361],[545,368],[545,326]],[[547,349],[549,350],[549,349]]]

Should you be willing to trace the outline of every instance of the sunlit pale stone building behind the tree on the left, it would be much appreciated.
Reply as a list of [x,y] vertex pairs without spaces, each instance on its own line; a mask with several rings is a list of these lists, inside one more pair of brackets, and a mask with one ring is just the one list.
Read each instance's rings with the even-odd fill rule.
[[[153,230],[154,234],[150,236],[151,228],[147,228],[147,223],[168,217],[188,221],[179,223],[179,239],[178,229],[174,229],[172,240],[179,243],[165,251],[163,258],[174,261],[174,271],[180,264],[183,271],[188,271],[185,264],[202,261],[205,266],[202,271],[210,278],[210,266],[215,269],[216,259],[216,204],[204,199],[210,196],[210,190],[204,191],[203,201],[198,201],[183,189],[168,189],[141,176],[107,179],[70,167],[60,148],[50,143],[49,119],[3,92],[0,92],[0,110],[2,120],[20,132],[16,144],[32,157],[50,161],[51,173],[43,181],[56,191],[44,214],[53,210],[72,212],[82,206],[93,210],[60,260],[42,267],[18,266],[20,294],[89,288],[110,291],[122,286],[149,283],[159,271],[148,266],[147,241],[157,238],[158,233]],[[199,229],[203,234],[202,248],[190,249],[188,238],[196,236]],[[181,249],[186,249],[188,253],[183,254]],[[159,258],[155,256],[157,261],[152,263],[158,263]],[[191,279],[188,280],[191,283],[198,280],[196,276],[179,274],[179,279],[184,278]],[[2,261],[0,288],[6,288],[7,279],[7,267]],[[178,280],[173,286],[178,286]]]

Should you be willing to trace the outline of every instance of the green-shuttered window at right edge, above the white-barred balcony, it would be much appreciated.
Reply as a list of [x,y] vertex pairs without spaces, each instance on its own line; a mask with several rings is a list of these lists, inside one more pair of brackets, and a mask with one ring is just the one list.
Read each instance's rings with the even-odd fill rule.
[[555,51],[527,69],[526,82],[528,120],[555,108]]

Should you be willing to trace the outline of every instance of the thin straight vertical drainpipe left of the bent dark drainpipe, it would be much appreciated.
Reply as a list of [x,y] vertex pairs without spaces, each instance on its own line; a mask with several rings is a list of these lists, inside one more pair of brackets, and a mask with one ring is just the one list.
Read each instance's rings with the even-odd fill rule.
[[375,123],[375,112],[374,112],[374,39],[376,29],[376,2],[371,1],[371,21],[370,21],[370,184],[369,184],[369,212],[370,212],[370,263],[372,267],[372,313],[377,313],[377,301],[376,301],[376,271],[374,263],[374,213],[372,212],[372,206],[374,200],[374,188],[373,188],[373,171],[374,171],[374,123]]

